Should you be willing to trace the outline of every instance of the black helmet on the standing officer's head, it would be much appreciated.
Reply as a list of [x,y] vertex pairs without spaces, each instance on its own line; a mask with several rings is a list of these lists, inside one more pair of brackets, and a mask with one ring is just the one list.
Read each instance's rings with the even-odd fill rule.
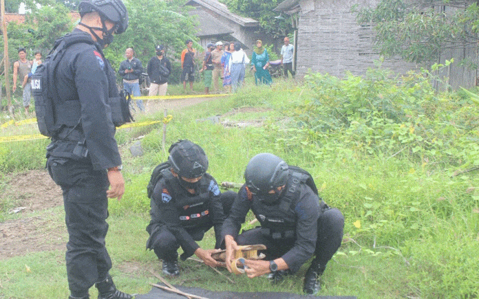
[[100,16],[115,23],[116,34],[125,32],[128,27],[128,12],[121,0],[84,0],[78,5],[80,16],[89,12],[98,12]]

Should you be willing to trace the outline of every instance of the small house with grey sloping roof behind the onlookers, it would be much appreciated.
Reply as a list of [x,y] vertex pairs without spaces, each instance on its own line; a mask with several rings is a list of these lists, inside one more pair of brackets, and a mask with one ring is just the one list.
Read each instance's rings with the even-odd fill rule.
[[200,44],[203,48],[216,41],[238,41],[243,49],[251,49],[257,40],[259,22],[230,12],[226,5],[217,0],[189,0],[185,5],[193,6],[189,13],[197,16]]

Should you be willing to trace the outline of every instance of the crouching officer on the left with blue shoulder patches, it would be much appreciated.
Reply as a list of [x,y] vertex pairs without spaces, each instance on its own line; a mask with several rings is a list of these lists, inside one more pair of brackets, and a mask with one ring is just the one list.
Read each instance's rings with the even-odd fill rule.
[[183,261],[195,254],[206,265],[218,265],[211,258],[217,250],[204,250],[195,241],[201,241],[204,233],[213,227],[215,248],[220,248],[221,227],[236,194],[220,192],[215,179],[206,173],[208,158],[198,144],[180,140],[169,148],[169,153],[171,168],[162,170],[151,196],[147,248],[163,260],[164,274],[178,276],[180,246]]

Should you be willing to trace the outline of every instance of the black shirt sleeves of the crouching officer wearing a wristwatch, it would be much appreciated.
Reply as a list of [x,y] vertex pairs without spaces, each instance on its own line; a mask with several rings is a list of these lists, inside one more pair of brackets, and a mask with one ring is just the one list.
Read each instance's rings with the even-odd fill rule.
[[[287,190],[288,186],[286,186]],[[284,196],[284,194],[282,195]],[[248,199],[244,186],[238,192],[238,197],[233,203],[231,212],[226,218],[222,226],[222,238],[226,235],[231,235],[236,239],[238,232],[240,232],[241,225],[246,219],[246,214],[251,209],[258,218],[258,211],[255,210],[253,202],[256,204],[262,204],[259,199],[253,195],[252,199]],[[281,199],[278,200],[278,209]],[[294,201],[293,201],[294,202]],[[290,247],[290,250],[286,252],[281,258],[284,259],[288,268],[292,272],[297,270],[308,261],[308,259],[315,252],[317,241],[317,221],[319,217],[319,198],[312,192],[312,190],[306,185],[301,184],[301,192],[298,199],[294,203],[294,210],[296,219],[295,229],[295,243],[284,244],[284,246]]]

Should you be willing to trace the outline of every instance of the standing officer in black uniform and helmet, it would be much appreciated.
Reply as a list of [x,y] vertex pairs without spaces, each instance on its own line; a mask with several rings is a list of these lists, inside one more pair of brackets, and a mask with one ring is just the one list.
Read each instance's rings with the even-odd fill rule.
[[128,14],[121,0],[82,1],[78,9],[81,22],[63,37],[69,46],[49,91],[57,93],[58,129],[47,147],[47,168],[63,190],[70,299],[88,299],[93,285],[98,299],[127,299],[109,276],[105,247],[107,197],[120,200],[125,182],[109,106],[109,98],[118,97],[115,71],[102,49],[114,33],[125,32]]

